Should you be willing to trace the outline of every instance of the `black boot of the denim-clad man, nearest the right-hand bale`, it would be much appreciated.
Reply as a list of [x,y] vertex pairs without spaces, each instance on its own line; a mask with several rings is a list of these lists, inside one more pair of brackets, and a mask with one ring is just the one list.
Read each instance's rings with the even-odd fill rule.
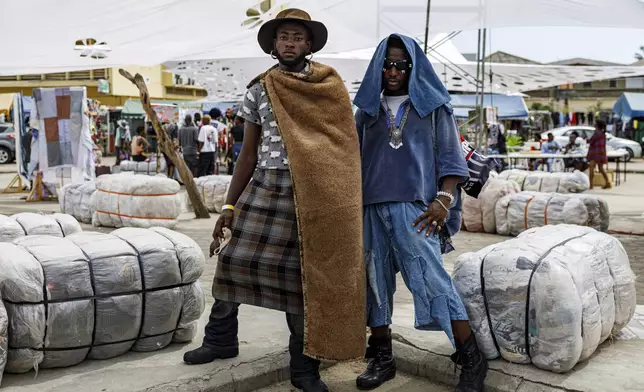
[[487,375],[487,358],[479,350],[474,335],[464,345],[458,347],[452,354],[452,362],[461,367],[461,377],[456,386],[456,392],[485,391],[485,376]]

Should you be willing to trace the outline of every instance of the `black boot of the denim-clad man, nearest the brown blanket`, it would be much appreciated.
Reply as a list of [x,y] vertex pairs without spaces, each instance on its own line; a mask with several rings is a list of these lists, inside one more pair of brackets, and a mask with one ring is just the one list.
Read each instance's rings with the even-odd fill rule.
[[396,359],[391,348],[391,331],[386,338],[369,338],[367,356],[372,358],[369,359],[367,370],[356,380],[358,389],[375,389],[396,377]]

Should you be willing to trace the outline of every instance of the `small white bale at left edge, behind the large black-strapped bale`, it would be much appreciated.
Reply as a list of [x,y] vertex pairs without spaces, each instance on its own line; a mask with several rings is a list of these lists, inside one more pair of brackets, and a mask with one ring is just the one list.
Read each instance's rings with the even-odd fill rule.
[[31,235],[66,237],[83,231],[76,219],[67,214],[41,215],[21,212],[12,216],[0,215],[0,242]]

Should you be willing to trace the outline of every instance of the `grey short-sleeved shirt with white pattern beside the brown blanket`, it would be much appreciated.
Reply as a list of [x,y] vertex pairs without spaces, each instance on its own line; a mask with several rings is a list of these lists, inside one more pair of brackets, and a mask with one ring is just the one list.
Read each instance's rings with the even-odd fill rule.
[[261,83],[252,85],[244,96],[244,103],[237,114],[246,121],[262,126],[257,167],[260,169],[288,170],[288,158],[282,142],[273,108]]

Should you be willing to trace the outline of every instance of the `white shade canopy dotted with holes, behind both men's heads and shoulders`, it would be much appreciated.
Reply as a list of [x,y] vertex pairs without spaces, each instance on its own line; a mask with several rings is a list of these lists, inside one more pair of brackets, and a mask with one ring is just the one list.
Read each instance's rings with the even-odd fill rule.
[[[374,50],[372,48],[336,55],[320,55],[315,59],[336,68],[345,80],[349,93],[355,93],[360,87],[360,81]],[[438,61],[432,55],[429,57],[436,73],[448,90],[476,92],[475,62],[445,63]],[[274,64],[275,60],[263,56],[255,59],[189,61],[170,64],[170,66],[173,72],[192,78],[198,85],[206,88],[209,93],[207,100],[226,101],[240,98],[246,84]],[[644,75],[644,67],[489,63],[486,65],[485,73],[486,93],[513,94],[569,83],[640,76]]]

